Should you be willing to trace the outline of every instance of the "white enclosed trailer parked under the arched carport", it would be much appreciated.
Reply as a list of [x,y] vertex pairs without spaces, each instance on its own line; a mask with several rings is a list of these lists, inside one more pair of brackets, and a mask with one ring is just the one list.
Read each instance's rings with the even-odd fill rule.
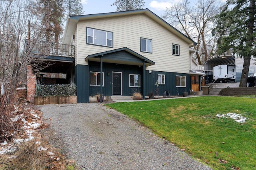
[[213,67],[213,78],[217,82],[236,82],[236,66],[218,65]]

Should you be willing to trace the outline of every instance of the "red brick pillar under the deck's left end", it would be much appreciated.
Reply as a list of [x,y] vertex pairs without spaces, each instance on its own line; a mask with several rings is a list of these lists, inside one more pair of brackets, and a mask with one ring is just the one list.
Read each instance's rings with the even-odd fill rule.
[[36,94],[36,75],[32,74],[31,66],[27,65],[27,100],[34,103]]

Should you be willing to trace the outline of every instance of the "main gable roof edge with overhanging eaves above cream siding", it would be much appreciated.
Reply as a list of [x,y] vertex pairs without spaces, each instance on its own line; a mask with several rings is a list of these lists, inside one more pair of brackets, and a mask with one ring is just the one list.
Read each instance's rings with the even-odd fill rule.
[[120,16],[129,16],[135,14],[145,14],[152,20],[156,21],[184,41],[186,41],[190,47],[197,45],[192,39],[188,38],[186,35],[181,33],[178,29],[174,28],[172,25],[164,21],[162,18],[154,14],[149,9],[142,9],[142,10],[131,10],[131,11],[122,11],[122,12],[109,12],[109,13],[101,13],[101,14],[89,14],[89,15],[81,15],[81,16],[70,16],[66,22],[66,27],[64,30],[63,40],[62,43],[67,44],[69,43],[72,33],[76,29],[76,24],[78,21],[84,20],[93,20],[93,19],[100,19],[100,18],[111,18],[111,17],[120,17]]

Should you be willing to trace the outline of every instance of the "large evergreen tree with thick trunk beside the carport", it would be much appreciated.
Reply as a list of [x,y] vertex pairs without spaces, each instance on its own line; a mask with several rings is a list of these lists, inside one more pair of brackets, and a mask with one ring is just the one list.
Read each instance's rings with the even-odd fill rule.
[[216,18],[219,34],[218,53],[231,50],[244,57],[244,65],[239,87],[246,87],[251,57],[256,57],[256,0],[228,0]]

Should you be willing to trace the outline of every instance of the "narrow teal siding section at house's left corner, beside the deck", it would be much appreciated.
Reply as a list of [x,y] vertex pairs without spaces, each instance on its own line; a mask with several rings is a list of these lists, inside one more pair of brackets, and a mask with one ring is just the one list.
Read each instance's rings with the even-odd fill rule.
[[77,103],[89,103],[89,67],[86,65],[76,65],[75,73]]

